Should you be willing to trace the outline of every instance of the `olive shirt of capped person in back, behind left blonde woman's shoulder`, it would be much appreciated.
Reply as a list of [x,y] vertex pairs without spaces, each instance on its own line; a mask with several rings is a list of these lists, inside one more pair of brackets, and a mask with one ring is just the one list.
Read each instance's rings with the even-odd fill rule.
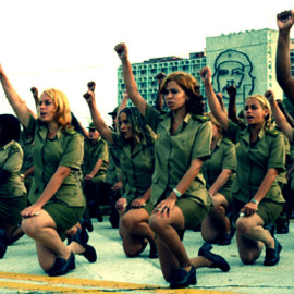
[[101,159],[103,162],[98,172],[91,179],[93,182],[100,182],[106,180],[106,172],[109,160],[108,144],[101,137],[96,142],[85,139],[83,174],[89,174],[99,159]]

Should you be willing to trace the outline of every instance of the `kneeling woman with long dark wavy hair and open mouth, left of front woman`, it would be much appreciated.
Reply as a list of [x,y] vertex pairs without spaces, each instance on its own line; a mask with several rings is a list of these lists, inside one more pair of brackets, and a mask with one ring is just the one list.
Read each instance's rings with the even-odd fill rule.
[[120,154],[119,164],[122,171],[122,198],[117,203],[121,211],[120,234],[124,253],[128,257],[140,254],[150,244],[150,258],[157,257],[155,234],[148,220],[152,211],[150,199],[151,175],[154,173],[155,136],[146,126],[144,118],[136,108],[124,108],[119,113],[119,134],[114,133],[102,120],[95,94],[88,91],[86,99],[91,119],[101,136]]

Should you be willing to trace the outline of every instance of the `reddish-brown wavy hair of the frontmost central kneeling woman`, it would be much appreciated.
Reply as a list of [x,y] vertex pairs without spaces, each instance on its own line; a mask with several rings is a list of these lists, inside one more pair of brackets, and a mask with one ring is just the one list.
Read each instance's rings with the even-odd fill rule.
[[197,79],[185,72],[174,72],[168,75],[161,84],[160,93],[166,94],[166,87],[169,82],[174,81],[185,91],[187,97],[186,100],[186,112],[192,114],[203,115],[205,112],[204,97],[200,95],[199,84]]

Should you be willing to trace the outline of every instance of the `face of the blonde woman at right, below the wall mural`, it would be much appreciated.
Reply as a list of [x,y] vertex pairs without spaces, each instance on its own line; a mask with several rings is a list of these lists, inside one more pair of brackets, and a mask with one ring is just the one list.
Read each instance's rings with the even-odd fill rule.
[[244,114],[248,125],[262,124],[269,110],[264,109],[257,99],[249,98],[245,101]]

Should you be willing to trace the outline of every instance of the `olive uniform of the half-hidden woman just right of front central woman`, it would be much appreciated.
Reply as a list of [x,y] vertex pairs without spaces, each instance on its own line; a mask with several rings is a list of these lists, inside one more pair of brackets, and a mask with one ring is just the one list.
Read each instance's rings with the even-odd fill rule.
[[236,171],[236,150],[235,145],[229,138],[221,137],[213,150],[211,150],[211,157],[203,164],[201,171],[206,180],[207,189],[213,185],[224,169],[231,170],[232,174],[218,192],[226,198],[230,206],[232,203],[231,187]]

